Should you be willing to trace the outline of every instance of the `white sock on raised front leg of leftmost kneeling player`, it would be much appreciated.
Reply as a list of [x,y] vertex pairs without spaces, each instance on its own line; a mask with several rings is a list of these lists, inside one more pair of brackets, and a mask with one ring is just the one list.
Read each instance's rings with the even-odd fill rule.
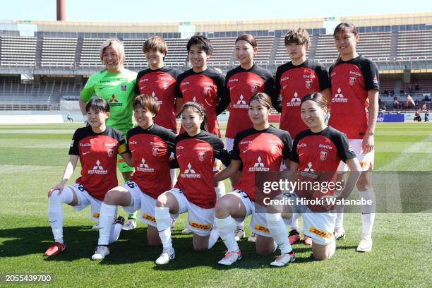
[[59,191],[54,191],[48,198],[48,220],[51,225],[54,241],[63,243],[63,210],[61,204],[69,204],[73,200],[73,192],[65,187],[59,195]]

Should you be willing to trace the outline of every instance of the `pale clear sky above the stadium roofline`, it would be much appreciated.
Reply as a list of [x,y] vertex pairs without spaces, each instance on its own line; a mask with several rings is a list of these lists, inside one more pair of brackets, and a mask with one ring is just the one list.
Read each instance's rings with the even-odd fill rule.
[[[66,20],[83,22],[201,22],[421,12],[432,12],[432,1],[66,0]],[[56,0],[7,1],[1,6],[0,20],[56,20]]]

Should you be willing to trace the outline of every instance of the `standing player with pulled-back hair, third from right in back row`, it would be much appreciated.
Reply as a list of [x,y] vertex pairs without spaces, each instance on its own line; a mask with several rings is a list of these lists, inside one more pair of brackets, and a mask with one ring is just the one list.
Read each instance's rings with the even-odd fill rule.
[[[234,137],[237,133],[253,126],[248,116],[249,100],[258,92],[275,95],[274,79],[270,71],[253,63],[253,57],[258,52],[258,45],[252,35],[244,34],[237,37],[234,54],[240,66],[227,73],[222,100],[217,105],[217,114],[220,114],[229,106],[229,118],[227,123],[226,148],[232,150]],[[276,103],[275,101],[272,101]],[[276,105],[277,106],[277,105]],[[232,185],[239,181],[239,175],[231,177]],[[236,224],[236,241],[244,237],[243,222]],[[249,239],[255,239],[252,234]]]

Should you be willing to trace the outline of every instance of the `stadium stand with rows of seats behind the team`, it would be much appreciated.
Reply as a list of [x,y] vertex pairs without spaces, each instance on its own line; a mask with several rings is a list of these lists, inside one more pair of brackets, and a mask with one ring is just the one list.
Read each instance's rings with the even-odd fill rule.
[[[402,14],[340,20],[358,26],[358,51],[378,64],[382,74],[380,98],[388,109],[392,109],[390,97],[404,101],[408,92],[420,102],[431,98],[432,25],[427,23],[432,23],[432,13],[422,13],[417,18]],[[413,23],[415,21],[418,23]],[[175,23],[121,23],[115,26],[118,32],[109,32],[109,29],[114,30],[112,23],[74,23],[71,26],[53,21],[35,23],[39,27],[35,37],[20,37],[19,31],[0,31],[0,109],[7,109],[2,107],[8,104],[45,105],[52,109],[50,107],[59,106],[60,100],[77,100],[86,78],[103,68],[100,46],[109,37],[119,37],[124,42],[125,66],[133,71],[147,67],[142,46],[152,35],[162,35],[167,41],[167,66],[184,70],[190,67],[186,52],[188,37],[181,37]],[[375,26],[368,26],[371,23]],[[283,25],[277,20],[232,21],[202,23],[201,30],[212,31],[202,33],[210,38],[214,47],[209,66],[226,72],[238,65],[234,41],[238,35],[250,33],[258,42],[256,64],[275,73],[277,66],[289,61],[284,47],[284,34],[289,27],[310,27],[308,57],[325,66],[334,63],[337,59],[334,40],[330,30],[326,34],[322,25],[323,20],[317,18],[287,20]],[[32,77],[21,80],[23,74],[35,76],[35,80],[31,80]],[[392,91],[394,95],[390,95]]]

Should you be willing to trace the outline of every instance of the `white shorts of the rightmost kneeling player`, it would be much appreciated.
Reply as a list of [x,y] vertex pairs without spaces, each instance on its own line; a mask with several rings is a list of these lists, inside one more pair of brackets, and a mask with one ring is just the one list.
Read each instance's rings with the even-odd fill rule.
[[[296,193],[284,193],[283,197],[290,197],[296,203]],[[291,205],[293,213],[303,217],[303,233],[312,238],[313,243],[327,245],[334,241],[335,210],[328,212],[313,212],[306,205]]]

